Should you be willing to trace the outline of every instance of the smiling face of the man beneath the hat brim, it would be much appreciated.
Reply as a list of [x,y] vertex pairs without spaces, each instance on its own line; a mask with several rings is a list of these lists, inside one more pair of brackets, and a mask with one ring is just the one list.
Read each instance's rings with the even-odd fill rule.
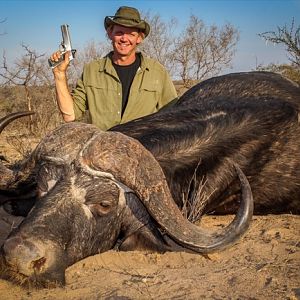
[[120,25],[114,25],[108,31],[108,37],[112,41],[114,51],[120,56],[130,56],[136,51],[137,45],[142,42],[142,37],[136,28]]

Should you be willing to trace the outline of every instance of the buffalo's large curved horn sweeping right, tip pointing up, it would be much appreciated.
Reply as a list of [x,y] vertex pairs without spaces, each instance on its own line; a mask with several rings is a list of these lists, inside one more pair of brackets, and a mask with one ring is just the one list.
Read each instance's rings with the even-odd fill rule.
[[81,152],[89,167],[107,172],[132,189],[151,216],[179,244],[200,253],[210,253],[233,244],[246,232],[253,213],[253,199],[246,176],[235,166],[242,200],[234,220],[218,232],[196,226],[183,217],[172,199],[159,163],[138,141],[118,132],[101,132]]

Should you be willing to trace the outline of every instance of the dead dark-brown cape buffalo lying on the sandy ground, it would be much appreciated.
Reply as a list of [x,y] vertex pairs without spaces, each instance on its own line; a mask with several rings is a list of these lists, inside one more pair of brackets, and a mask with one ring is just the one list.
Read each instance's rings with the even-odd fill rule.
[[[5,276],[63,282],[67,266],[112,248],[218,251],[247,230],[253,198],[256,213],[299,213],[299,107],[300,88],[280,75],[238,73],[108,132],[55,129],[27,160],[1,166],[3,202],[35,201],[2,247]],[[218,232],[192,224],[236,210]]]

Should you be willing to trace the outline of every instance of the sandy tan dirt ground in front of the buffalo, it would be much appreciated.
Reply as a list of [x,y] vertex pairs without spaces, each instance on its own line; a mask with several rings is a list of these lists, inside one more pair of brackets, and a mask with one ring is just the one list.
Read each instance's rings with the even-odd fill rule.
[[[0,211],[4,228],[16,225]],[[231,216],[205,217],[218,228]],[[256,216],[239,243],[208,257],[109,251],[66,270],[66,286],[22,289],[0,280],[0,299],[300,299],[300,216]]]

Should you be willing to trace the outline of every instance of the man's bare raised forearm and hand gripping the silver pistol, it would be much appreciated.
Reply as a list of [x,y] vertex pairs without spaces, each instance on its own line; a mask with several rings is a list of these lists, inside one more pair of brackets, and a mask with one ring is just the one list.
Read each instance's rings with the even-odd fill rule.
[[[55,52],[51,55],[51,60],[58,61],[60,56],[61,54],[59,51]],[[57,104],[65,122],[72,122],[75,120],[73,98],[68,88],[68,80],[66,75],[66,71],[70,62],[69,56],[70,52],[67,52],[64,62],[52,69],[56,86]]]

